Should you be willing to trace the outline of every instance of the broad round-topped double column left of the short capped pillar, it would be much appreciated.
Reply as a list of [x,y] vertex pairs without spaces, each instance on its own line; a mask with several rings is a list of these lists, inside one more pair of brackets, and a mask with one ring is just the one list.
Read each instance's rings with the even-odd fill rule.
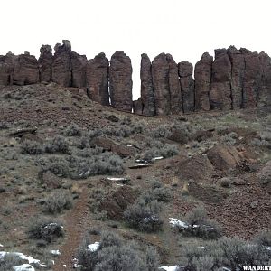
[[178,66],[172,55],[160,53],[154,58],[152,76],[156,115],[170,115],[182,111]]

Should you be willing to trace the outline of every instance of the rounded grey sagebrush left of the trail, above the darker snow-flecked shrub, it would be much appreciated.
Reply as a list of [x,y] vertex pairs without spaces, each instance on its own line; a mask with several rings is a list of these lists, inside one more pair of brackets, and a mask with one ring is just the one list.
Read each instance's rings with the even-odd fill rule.
[[68,210],[71,207],[72,197],[70,192],[52,192],[44,202],[44,211],[51,214],[61,213],[63,210]]

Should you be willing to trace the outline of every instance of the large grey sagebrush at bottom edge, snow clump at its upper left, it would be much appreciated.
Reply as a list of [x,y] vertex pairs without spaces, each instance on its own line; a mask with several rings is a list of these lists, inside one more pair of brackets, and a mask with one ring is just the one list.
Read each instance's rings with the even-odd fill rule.
[[98,249],[88,249],[89,240],[79,247],[78,260],[85,271],[156,271],[159,257],[152,247],[143,248],[135,242],[124,242],[112,233],[102,234]]

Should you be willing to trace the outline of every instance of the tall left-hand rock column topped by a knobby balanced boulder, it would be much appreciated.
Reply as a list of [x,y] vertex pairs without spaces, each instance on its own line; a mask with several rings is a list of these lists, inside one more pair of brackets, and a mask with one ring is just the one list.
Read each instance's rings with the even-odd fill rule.
[[63,87],[71,87],[71,45],[68,41],[54,47],[51,80]]

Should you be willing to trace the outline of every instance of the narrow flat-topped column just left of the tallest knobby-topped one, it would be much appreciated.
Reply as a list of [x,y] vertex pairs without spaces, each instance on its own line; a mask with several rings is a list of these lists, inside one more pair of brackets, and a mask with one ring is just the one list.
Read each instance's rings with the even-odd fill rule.
[[39,58],[40,81],[51,82],[52,53],[51,45],[42,45]]

